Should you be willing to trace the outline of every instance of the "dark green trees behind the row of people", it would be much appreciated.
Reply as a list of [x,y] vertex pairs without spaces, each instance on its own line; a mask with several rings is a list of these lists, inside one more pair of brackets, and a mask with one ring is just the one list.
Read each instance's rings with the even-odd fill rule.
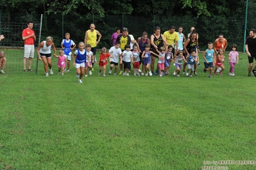
[[[248,1],[248,29],[255,27],[256,3]],[[206,47],[219,34],[243,49],[244,19],[246,1],[35,1],[26,2],[4,0],[1,4],[1,30],[8,30],[3,23],[22,22],[26,27],[27,20],[40,24],[40,13],[43,14],[42,37],[53,36],[56,45],[64,38],[63,33],[71,33],[71,38],[78,43],[83,41],[85,31],[94,23],[96,29],[103,35],[99,47],[110,47],[110,36],[117,27],[128,27],[129,33],[135,38],[147,31],[153,33],[155,26],[160,26],[162,33],[170,26],[183,27],[187,35],[190,27],[196,27],[200,35],[200,46]],[[10,27],[10,26],[9,26]],[[19,31],[19,30],[17,30]],[[22,30],[20,30],[22,31]],[[246,31],[248,32],[248,31]],[[3,33],[3,31],[2,31]],[[36,33],[37,35],[39,33]],[[17,37],[15,37],[17,36]],[[16,42],[20,34],[12,35]],[[2,43],[3,45],[3,43]]]

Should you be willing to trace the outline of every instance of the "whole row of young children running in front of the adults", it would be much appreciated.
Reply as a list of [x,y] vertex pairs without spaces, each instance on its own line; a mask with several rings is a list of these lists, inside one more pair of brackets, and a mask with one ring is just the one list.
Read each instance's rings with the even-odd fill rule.
[[[72,48],[71,48],[72,47]],[[71,61],[72,50],[76,47],[76,44],[69,39],[69,34],[65,35],[65,39],[62,41],[62,50],[59,51],[60,56],[58,58],[58,74],[64,75],[64,72],[69,72],[69,65]],[[194,65],[197,62],[196,58],[196,49],[191,50],[191,54],[185,58],[183,51],[180,50],[176,55],[173,54],[173,46],[169,45],[167,49],[165,47],[160,47],[157,49],[158,54],[150,50],[150,45],[146,45],[144,51],[139,51],[139,47],[134,44],[132,47],[132,51],[130,50],[130,45],[125,46],[125,50],[120,49],[120,43],[116,42],[115,46],[111,47],[108,51],[106,47],[101,49],[101,54],[99,55],[99,73],[103,72],[103,77],[107,77],[106,75],[106,66],[107,63],[110,63],[110,68],[108,73],[112,74],[112,70],[114,68],[114,75],[117,74],[117,66],[118,63],[123,64],[124,72],[123,75],[129,76],[131,70],[131,63],[133,64],[133,75],[146,75],[151,76],[151,70],[149,68],[151,61],[151,54],[154,54],[158,57],[158,75],[162,77],[163,75],[169,75],[169,68],[171,66],[171,61],[173,61],[176,69],[173,72],[173,75],[176,77],[180,77],[180,72],[182,70],[182,64],[185,63],[187,66],[187,73],[185,75],[192,77],[192,73],[194,72]],[[85,77],[88,76],[87,72],[89,70],[89,74],[92,75],[92,63],[94,63],[95,56],[92,54],[91,46],[89,44],[85,45],[85,43],[80,42],[78,44],[78,49],[75,50],[73,54],[73,66],[76,67],[76,77],[78,77],[78,82],[82,83],[81,79],[85,74]],[[213,72],[214,75],[218,72],[219,75],[223,75],[223,70],[225,67],[223,62],[225,61],[224,50],[220,49],[218,54],[214,52],[213,43],[208,43],[208,49],[203,53],[204,58],[204,72],[209,70],[209,78],[212,78],[212,72],[215,66],[215,70]],[[141,58],[140,58],[141,54]],[[238,63],[239,54],[237,52],[237,45],[232,45],[232,51],[228,54],[228,60],[230,63],[230,72],[228,75],[234,76],[234,65]],[[142,61],[141,61],[142,60]],[[140,65],[142,62],[142,72],[139,73]],[[65,63],[68,64],[67,70],[65,69]],[[62,73],[60,73],[62,71]],[[145,72],[145,73],[144,73]]]

